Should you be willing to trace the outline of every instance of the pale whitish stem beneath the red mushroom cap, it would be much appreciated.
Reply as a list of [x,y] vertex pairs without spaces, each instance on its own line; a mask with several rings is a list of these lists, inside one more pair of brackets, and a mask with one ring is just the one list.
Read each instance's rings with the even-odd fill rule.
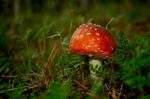
[[102,85],[103,83],[103,77],[99,77],[97,75],[97,72],[102,73],[103,69],[102,69],[102,62],[100,60],[97,59],[91,59],[89,61],[89,65],[90,65],[90,76],[91,78],[99,83],[100,85]]

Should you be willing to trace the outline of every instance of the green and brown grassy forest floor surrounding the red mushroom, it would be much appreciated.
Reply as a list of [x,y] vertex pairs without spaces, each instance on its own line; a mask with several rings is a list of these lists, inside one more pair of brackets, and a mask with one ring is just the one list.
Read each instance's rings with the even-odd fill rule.
[[[119,10],[118,10],[119,9]],[[150,97],[148,9],[129,3],[95,4],[86,13],[68,6],[58,15],[22,13],[0,23],[0,98],[127,99]],[[107,26],[117,40],[116,52],[103,60],[105,78],[97,86],[88,58],[73,54],[70,37],[82,23]],[[97,82],[98,83],[98,82]]]

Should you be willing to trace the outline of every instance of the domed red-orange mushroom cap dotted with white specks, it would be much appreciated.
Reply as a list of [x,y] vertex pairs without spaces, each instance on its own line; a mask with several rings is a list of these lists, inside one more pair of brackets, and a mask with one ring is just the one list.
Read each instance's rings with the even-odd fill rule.
[[116,42],[106,29],[88,23],[75,30],[69,47],[73,53],[109,58],[114,53]]

